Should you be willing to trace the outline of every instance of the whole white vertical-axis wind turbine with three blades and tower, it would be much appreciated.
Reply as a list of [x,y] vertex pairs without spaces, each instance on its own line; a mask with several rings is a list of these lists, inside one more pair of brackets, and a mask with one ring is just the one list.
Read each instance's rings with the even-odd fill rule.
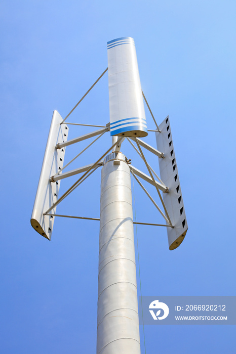
[[[166,226],[170,250],[181,244],[188,226],[169,116],[158,126],[147,104],[156,125],[156,129],[150,131],[155,132],[157,149],[140,139],[148,134],[143,98],[146,103],[147,101],[141,90],[134,40],[131,37],[111,40],[107,42],[107,51],[110,122],[89,134],[67,140],[68,125],[72,123],[65,124],[65,119],[103,76],[106,69],[66,118],[62,119],[60,114],[54,111],[31,225],[50,240],[56,216],[100,220],[97,354],[140,354],[131,173],[165,219],[164,225],[136,224]],[[96,162],[63,172],[107,131],[110,131],[112,144]],[[96,137],[95,140],[63,167],[66,146],[93,137]],[[131,165],[130,160],[120,151],[125,140],[144,161],[148,175]],[[142,148],[158,157],[160,177],[147,162]],[[100,166],[100,219],[56,214],[57,205]],[[82,176],[58,198],[60,181],[76,174]],[[163,210],[138,177],[154,186]]]

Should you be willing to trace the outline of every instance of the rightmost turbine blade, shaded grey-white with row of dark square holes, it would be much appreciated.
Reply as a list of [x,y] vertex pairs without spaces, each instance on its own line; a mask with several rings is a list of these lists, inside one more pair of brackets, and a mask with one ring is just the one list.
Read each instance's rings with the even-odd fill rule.
[[173,250],[183,241],[188,226],[179,183],[169,116],[164,119],[159,128],[161,132],[156,132],[156,144],[158,149],[165,154],[165,158],[159,159],[159,166],[161,179],[170,189],[169,193],[163,194],[163,200],[174,226],[174,228],[167,228],[169,249]]

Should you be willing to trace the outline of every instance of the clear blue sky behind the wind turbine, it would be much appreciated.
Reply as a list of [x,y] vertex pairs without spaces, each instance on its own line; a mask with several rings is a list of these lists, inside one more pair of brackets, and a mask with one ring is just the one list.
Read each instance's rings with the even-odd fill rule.
[[[30,215],[53,110],[68,114],[107,67],[106,42],[117,37],[135,40],[158,123],[170,116],[189,227],[174,251],[164,228],[137,228],[142,294],[235,295],[235,10],[229,0],[2,2],[1,352],[96,351],[99,223],[57,218],[49,242]],[[109,121],[107,74],[68,121]],[[88,131],[70,127],[69,139]],[[155,146],[151,133],[146,141]],[[110,143],[107,133],[73,168]],[[67,161],[84,146],[67,148]],[[100,172],[57,212],[99,217]],[[159,222],[135,183],[134,196],[137,220]],[[145,339],[148,354],[228,354],[236,344],[235,326],[145,326]]]

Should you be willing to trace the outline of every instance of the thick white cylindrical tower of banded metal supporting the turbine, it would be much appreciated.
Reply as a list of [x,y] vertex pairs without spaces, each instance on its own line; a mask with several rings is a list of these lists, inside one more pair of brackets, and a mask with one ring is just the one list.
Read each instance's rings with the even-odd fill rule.
[[104,160],[98,273],[97,354],[140,354],[130,168]]

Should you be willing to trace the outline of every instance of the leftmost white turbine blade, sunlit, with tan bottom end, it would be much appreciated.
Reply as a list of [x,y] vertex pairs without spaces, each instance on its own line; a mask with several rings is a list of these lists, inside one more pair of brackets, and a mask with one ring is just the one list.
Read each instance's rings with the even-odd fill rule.
[[[65,142],[68,136],[68,127],[66,124],[60,124],[61,122],[62,117],[54,111],[30,220],[32,227],[49,240],[53,230],[54,216],[44,215],[44,212],[56,203],[60,187],[60,181],[51,183],[49,179],[62,168],[65,156],[65,148],[58,150],[55,146]],[[53,208],[52,213],[55,212],[56,207]]]

